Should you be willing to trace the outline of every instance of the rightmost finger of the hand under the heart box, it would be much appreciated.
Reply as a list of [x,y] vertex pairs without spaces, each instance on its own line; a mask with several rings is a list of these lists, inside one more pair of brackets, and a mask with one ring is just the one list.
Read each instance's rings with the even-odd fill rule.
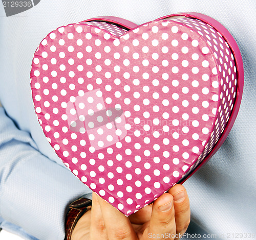
[[190,223],[190,207],[187,191],[184,186],[176,184],[168,190],[168,193],[174,197],[176,233],[182,235],[186,232]]

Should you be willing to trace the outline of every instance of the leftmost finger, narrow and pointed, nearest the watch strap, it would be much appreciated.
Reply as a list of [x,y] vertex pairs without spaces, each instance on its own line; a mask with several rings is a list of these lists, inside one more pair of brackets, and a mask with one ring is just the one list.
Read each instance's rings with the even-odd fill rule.
[[100,204],[95,193],[93,193],[92,199],[90,239],[108,240]]

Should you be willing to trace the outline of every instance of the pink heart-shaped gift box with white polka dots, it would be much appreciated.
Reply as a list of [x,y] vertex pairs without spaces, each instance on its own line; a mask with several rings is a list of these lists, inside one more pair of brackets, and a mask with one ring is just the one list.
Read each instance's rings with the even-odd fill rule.
[[140,26],[97,17],[41,41],[31,89],[57,155],[130,215],[221,146],[238,114],[243,64],[231,34],[203,14]]

